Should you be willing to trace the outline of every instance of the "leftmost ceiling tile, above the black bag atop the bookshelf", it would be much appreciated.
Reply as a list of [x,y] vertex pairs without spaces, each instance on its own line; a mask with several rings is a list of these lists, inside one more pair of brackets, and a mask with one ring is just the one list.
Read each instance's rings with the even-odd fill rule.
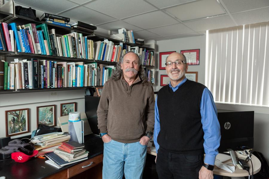
[[16,0],[16,3],[24,4],[28,7],[41,9],[45,12],[59,13],[64,10],[70,9],[71,7],[77,6],[78,4],[66,0],[46,0],[46,1],[36,1],[36,0]]

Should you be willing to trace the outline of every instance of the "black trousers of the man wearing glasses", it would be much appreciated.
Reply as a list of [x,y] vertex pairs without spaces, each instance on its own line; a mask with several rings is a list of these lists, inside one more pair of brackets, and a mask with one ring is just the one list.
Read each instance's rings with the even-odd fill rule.
[[198,179],[204,154],[188,155],[158,150],[156,170],[159,179]]

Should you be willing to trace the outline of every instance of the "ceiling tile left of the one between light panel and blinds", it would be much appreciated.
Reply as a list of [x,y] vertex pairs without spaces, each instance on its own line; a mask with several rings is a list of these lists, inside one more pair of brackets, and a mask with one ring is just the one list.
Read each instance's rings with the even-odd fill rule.
[[157,27],[153,29],[148,29],[148,31],[157,33],[161,36],[170,36],[175,34],[183,34],[193,32],[190,28],[186,27],[184,24],[174,24],[163,27]]

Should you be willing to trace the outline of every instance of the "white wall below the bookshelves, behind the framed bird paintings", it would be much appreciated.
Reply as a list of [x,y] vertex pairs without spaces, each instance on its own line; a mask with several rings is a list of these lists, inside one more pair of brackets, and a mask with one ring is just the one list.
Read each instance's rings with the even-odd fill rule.
[[[46,105],[56,105],[56,124],[60,116],[61,103],[77,102],[77,111],[85,112],[84,90],[65,90],[65,91],[48,91],[48,92],[28,92],[17,94],[1,94],[0,95],[0,138],[6,136],[5,129],[5,111],[13,109],[29,108],[29,133],[11,136],[18,138],[30,135],[37,128],[36,107]],[[56,95],[51,95],[55,93]]]

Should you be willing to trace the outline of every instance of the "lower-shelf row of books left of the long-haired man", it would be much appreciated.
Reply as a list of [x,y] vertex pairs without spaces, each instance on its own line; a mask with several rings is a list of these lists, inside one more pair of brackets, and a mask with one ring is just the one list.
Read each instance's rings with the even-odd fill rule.
[[0,62],[0,90],[102,86],[111,77],[114,66],[97,62],[56,62],[14,59]]

